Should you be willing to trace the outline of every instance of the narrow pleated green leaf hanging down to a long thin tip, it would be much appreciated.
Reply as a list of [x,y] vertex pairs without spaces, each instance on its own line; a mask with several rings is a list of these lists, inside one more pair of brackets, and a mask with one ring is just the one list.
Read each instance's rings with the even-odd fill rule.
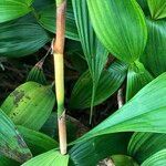
[[107,50],[97,40],[92,28],[86,1],[72,0],[74,15],[76,20],[79,37],[82,43],[83,52],[87,61],[89,70],[93,80],[90,123],[93,115],[93,106],[96,94],[96,87],[108,55]]

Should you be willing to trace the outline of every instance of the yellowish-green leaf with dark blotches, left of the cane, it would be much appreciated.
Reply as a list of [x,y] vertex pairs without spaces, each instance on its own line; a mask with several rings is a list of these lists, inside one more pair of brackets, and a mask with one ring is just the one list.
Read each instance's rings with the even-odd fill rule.
[[55,95],[51,86],[27,82],[7,97],[1,108],[14,124],[38,131],[49,118],[54,102]]

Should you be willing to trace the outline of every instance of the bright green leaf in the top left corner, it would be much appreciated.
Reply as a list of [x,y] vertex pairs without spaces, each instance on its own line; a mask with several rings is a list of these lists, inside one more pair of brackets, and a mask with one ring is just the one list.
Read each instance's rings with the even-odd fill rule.
[[31,11],[33,0],[1,0],[0,23],[17,19]]

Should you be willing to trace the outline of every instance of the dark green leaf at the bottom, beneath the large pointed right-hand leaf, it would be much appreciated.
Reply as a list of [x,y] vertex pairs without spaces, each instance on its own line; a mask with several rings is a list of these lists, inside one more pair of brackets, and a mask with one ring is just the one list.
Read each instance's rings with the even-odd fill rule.
[[95,166],[113,154],[126,154],[129,137],[129,133],[116,133],[75,144],[69,152],[70,166]]

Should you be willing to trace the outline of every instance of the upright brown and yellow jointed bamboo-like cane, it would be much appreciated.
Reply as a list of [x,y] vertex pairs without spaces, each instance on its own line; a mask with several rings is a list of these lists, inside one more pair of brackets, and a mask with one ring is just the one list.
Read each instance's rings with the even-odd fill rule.
[[64,110],[64,33],[65,33],[65,8],[66,0],[56,0],[56,38],[53,44],[54,74],[55,74],[55,94],[58,101],[58,123],[60,152],[66,154],[66,126]]

